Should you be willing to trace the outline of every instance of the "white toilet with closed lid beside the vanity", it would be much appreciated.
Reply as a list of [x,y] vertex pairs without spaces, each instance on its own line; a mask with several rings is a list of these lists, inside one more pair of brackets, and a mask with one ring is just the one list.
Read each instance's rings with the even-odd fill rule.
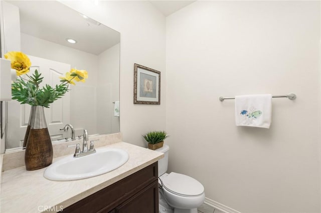
[[168,145],[158,148],[165,154],[158,160],[159,212],[161,213],[197,213],[205,200],[204,186],[202,183],[185,174],[166,173],[169,160]]

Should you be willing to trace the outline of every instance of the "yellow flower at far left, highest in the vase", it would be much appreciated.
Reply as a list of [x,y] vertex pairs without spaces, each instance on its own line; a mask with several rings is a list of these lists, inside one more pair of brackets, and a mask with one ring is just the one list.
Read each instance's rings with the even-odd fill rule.
[[11,68],[16,69],[18,76],[29,72],[31,61],[25,53],[11,51],[5,54],[5,58],[11,60]]

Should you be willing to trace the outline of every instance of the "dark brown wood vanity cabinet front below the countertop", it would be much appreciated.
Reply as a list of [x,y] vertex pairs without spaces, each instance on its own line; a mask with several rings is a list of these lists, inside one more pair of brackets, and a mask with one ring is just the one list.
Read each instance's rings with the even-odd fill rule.
[[63,212],[158,213],[157,162],[109,185]]

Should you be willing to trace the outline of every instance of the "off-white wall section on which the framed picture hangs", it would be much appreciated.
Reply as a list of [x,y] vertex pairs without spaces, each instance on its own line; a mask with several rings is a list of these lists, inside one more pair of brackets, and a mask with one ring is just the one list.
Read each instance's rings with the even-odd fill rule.
[[[123,140],[147,146],[141,134],[166,126],[166,18],[148,1],[63,1],[120,32],[120,131]],[[162,72],[161,104],[133,104],[134,63]]]

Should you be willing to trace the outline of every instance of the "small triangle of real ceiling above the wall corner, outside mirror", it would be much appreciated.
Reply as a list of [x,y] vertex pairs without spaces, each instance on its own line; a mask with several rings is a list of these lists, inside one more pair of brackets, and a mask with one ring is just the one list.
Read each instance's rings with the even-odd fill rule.
[[149,0],[159,11],[168,16],[196,0]]

